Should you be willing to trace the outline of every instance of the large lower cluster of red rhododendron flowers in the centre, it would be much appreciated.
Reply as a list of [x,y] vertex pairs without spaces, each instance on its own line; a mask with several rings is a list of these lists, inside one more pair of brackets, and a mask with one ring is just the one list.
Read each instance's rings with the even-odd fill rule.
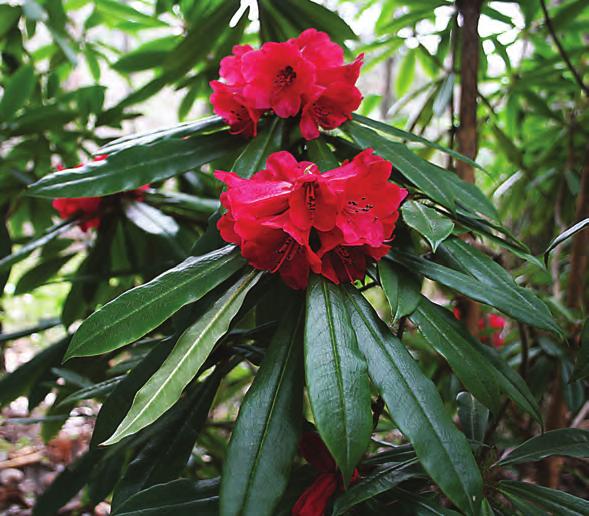
[[388,181],[392,165],[372,149],[323,174],[285,151],[266,167],[251,179],[215,172],[228,186],[221,236],[255,268],[303,289],[310,270],[334,283],[361,280],[368,261],[387,254],[407,191]]

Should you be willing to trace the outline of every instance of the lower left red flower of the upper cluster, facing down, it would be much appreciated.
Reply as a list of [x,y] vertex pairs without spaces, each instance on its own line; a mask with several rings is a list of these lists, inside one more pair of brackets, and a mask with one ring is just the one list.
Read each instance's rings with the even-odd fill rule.
[[238,89],[219,81],[210,84],[213,88],[211,104],[215,113],[229,124],[231,134],[256,136],[262,111],[250,107]]

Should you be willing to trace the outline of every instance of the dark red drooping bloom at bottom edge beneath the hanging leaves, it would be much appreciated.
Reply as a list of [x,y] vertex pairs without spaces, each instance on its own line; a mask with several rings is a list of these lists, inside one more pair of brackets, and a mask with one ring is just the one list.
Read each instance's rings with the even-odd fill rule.
[[[329,450],[315,432],[305,432],[299,448],[301,455],[307,462],[315,466],[319,475],[303,491],[292,508],[291,514],[292,516],[323,516],[329,499],[336,491],[343,490],[341,474]],[[355,469],[350,483],[357,482],[359,478],[360,474]]]

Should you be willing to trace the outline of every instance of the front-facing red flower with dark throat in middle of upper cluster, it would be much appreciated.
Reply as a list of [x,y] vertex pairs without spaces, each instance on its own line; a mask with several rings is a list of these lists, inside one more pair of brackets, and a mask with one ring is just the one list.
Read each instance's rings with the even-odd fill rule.
[[315,66],[290,43],[264,43],[242,57],[247,81],[244,96],[258,109],[273,109],[281,118],[295,116],[303,95],[315,84]]

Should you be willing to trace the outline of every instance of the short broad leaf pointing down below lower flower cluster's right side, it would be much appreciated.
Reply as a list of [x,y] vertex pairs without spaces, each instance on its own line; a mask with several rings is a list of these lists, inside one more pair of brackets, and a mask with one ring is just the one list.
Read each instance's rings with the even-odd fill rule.
[[411,315],[421,299],[419,279],[389,260],[378,262],[378,276],[391,307],[393,323],[398,322],[401,317]]

